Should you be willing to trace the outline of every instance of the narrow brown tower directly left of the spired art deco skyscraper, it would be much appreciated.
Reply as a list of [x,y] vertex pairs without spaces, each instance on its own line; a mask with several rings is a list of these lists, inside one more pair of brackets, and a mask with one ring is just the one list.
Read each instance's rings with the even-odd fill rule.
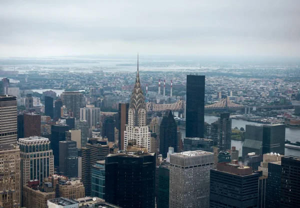
[[118,146],[120,150],[124,149],[124,131],[126,129],[126,124],[128,123],[128,109],[129,103],[119,103],[118,108]]

